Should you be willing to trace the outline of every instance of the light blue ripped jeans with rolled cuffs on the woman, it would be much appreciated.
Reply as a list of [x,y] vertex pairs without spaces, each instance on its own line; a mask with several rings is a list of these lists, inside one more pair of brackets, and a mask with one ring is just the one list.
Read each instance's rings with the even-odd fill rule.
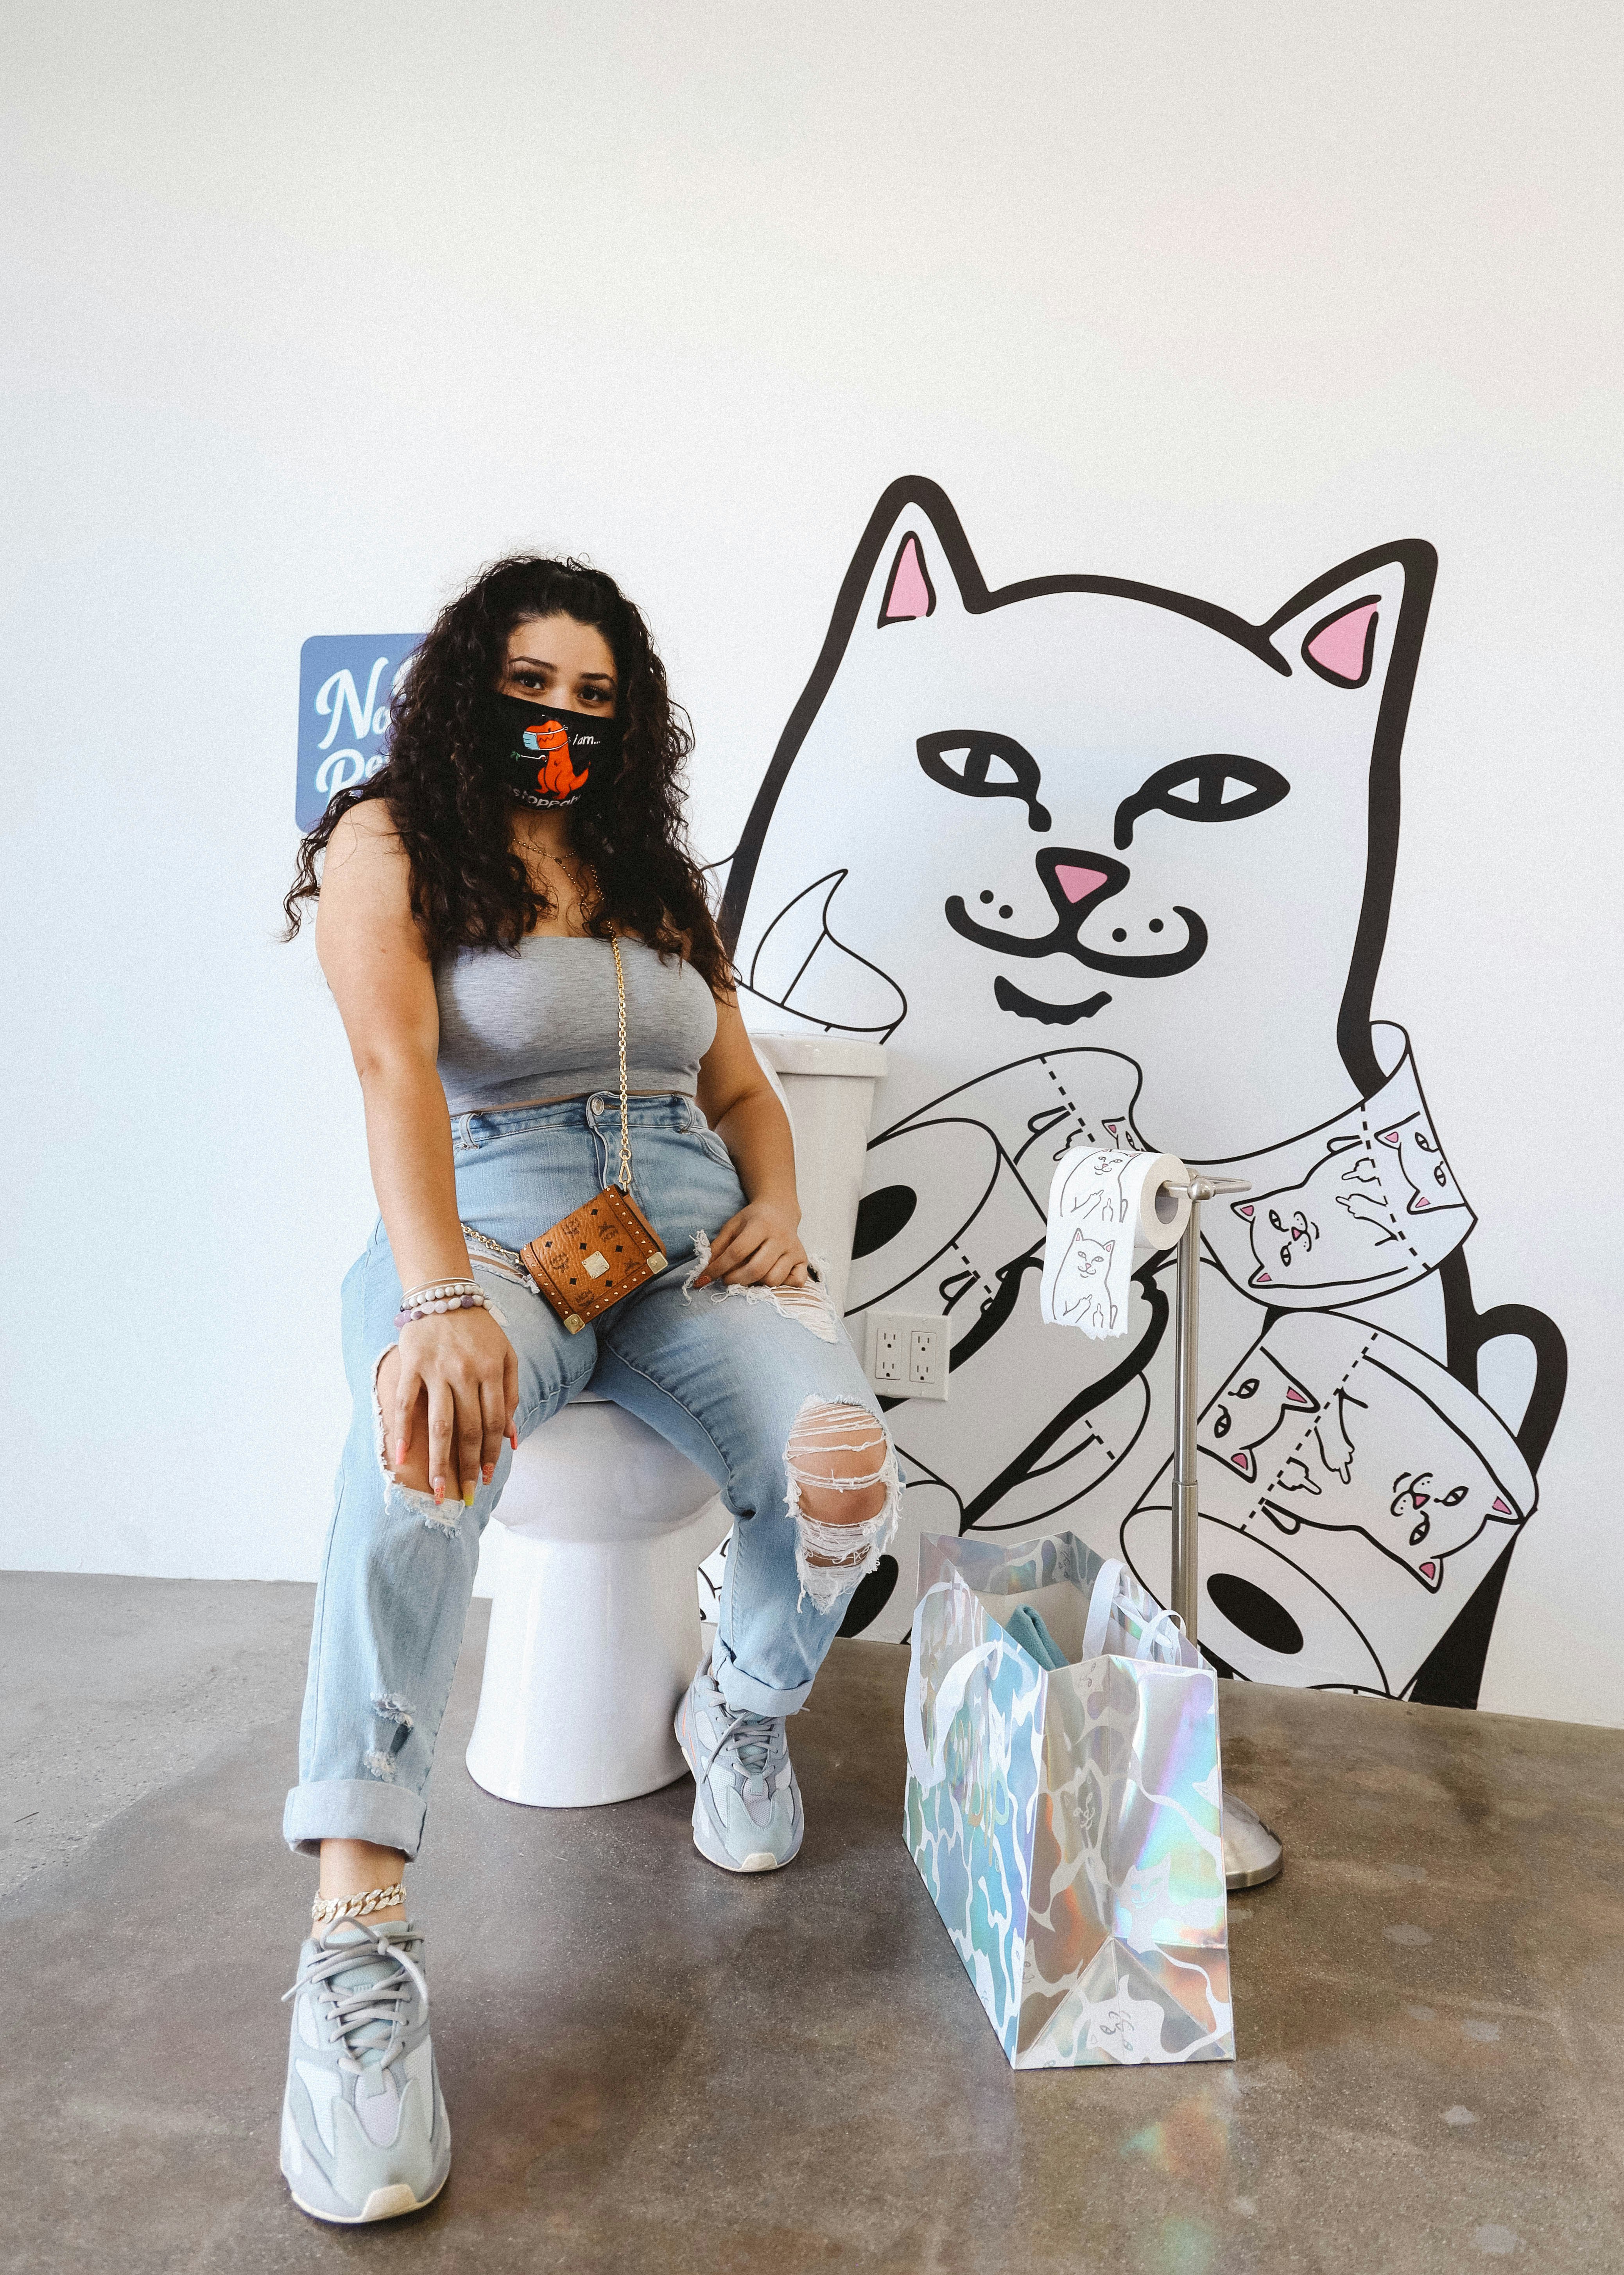
[[[735,1520],[716,1679],[735,1709],[794,1713],[853,1586],[896,1524],[896,1456],[821,1285],[780,1294],[687,1285],[714,1233],[744,1206],[728,1151],[694,1101],[632,1099],[630,1124],[632,1197],[671,1265],[596,1326],[569,1335],[500,1258],[469,1244],[473,1274],[519,1354],[519,1438],[591,1388],[707,1470]],[[457,1210],[516,1251],[610,1181],[619,1142],[614,1097],[457,1115]],[[496,1476],[471,1508],[455,1495],[437,1506],[389,1479],[375,1379],[398,1340],[398,1306],[400,1279],[378,1224],[343,1281],[355,1415],[316,1590],[300,1781],[282,1818],[289,1847],[305,1854],[321,1840],[373,1840],[416,1856],[480,1533],[512,1465],[503,1445]],[[855,1454],[830,1463],[830,1445]],[[885,1481],[880,1515],[839,1529],[810,1517],[801,1488],[837,1474],[846,1486]]]

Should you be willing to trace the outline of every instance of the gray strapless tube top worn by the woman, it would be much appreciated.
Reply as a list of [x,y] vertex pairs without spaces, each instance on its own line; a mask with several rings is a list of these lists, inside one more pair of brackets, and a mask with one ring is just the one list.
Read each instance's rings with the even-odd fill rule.
[[[698,971],[621,940],[625,1069],[632,1090],[694,1097],[716,1040],[716,1001]],[[457,949],[434,969],[439,1078],[453,1115],[525,1099],[621,1087],[614,949],[607,940],[530,933],[519,953]]]

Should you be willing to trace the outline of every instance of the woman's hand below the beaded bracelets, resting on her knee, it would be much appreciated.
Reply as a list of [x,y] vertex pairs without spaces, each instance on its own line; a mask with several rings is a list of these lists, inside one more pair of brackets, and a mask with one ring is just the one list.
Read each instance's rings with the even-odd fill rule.
[[489,1310],[430,1313],[400,1329],[389,1442],[403,1483],[425,1474],[437,1502],[448,1490],[471,1502],[480,1481],[489,1486],[503,1438],[516,1445],[516,1406],[519,1358]]

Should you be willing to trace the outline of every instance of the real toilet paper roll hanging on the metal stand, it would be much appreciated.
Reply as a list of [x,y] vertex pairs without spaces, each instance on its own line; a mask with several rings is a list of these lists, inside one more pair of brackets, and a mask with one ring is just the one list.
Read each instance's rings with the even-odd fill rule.
[[1128,1333],[1133,1258],[1178,1247],[1190,1222],[1190,1172],[1174,1153],[1071,1147],[1049,1185],[1042,1315],[1105,1340]]

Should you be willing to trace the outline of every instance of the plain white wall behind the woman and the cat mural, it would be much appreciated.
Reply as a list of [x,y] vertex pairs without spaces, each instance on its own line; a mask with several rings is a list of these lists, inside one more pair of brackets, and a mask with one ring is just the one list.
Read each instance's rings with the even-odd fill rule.
[[[1624,1720],[1619,18],[14,11],[0,1563],[307,1577],[371,1215],[273,944],[298,648],[473,564],[644,601],[726,853],[887,480],[989,582],[1267,617],[1428,537],[1378,1010],[1574,1363],[1483,1704]],[[1488,1110],[1492,1106],[1492,1110]],[[1585,1167],[1519,1197],[1528,1144]]]

